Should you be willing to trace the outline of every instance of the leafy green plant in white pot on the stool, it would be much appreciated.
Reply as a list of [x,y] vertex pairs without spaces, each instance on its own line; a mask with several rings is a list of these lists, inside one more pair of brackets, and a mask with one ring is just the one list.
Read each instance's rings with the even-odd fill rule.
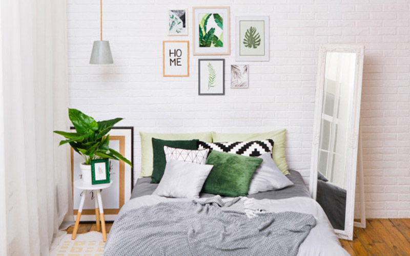
[[61,140],[59,145],[69,143],[73,150],[84,158],[85,162],[80,164],[83,182],[91,184],[91,160],[93,159],[122,160],[132,166],[128,159],[108,145],[110,135],[107,134],[112,126],[123,118],[95,121],[94,118],[76,109],[68,109],[68,117],[75,127],[75,133],[63,131],[54,131],[54,133],[66,138]]

